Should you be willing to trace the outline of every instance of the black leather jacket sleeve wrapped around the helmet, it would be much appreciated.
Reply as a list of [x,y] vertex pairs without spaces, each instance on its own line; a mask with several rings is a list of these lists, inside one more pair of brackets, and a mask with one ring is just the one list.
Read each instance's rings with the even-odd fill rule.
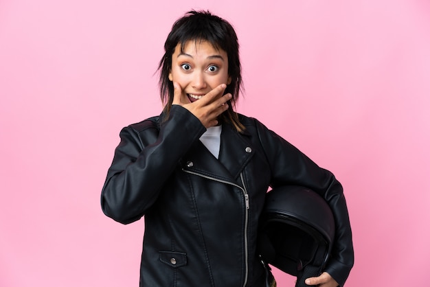
[[256,120],[260,142],[271,166],[272,187],[295,184],[321,195],[335,218],[335,242],[326,272],[343,286],[354,264],[352,231],[341,183],[328,170],[319,168],[305,154]]

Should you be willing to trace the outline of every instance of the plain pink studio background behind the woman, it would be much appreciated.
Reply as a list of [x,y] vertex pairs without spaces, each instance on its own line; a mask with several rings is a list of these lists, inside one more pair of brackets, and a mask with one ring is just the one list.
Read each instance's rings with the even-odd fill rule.
[[138,285],[144,222],[106,218],[100,190],[120,128],[161,111],[163,41],[191,8],[236,27],[238,111],[343,183],[346,286],[427,286],[425,0],[1,0],[0,286]]

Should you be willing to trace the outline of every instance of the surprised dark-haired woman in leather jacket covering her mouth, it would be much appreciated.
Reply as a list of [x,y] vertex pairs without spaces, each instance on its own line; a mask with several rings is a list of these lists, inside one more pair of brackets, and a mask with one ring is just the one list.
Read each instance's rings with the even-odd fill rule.
[[102,210],[123,224],[144,216],[140,286],[267,286],[258,219],[268,187],[304,185],[336,221],[326,271],[309,285],[343,285],[353,264],[340,183],[258,120],[234,112],[242,77],[227,21],[191,11],[161,59],[161,115],[123,128]]

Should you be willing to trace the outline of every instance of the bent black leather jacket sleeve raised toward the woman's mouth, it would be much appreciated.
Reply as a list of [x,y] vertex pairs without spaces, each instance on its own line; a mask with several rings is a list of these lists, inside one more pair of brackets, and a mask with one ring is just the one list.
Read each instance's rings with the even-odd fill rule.
[[123,224],[142,218],[205,130],[199,119],[176,105],[159,129],[154,124],[123,128],[102,189],[104,214]]

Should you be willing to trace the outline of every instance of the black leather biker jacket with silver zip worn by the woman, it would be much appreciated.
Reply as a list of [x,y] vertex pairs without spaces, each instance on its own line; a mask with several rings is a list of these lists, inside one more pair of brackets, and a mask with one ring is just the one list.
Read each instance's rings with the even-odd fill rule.
[[102,190],[102,210],[124,224],[144,216],[140,286],[264,286],[258,218],[269,186],[297,184],[332,207],[336,242],[326,271],[341,285],[354,255],[340,183],[256,119],[223,125],[217,160],[205,127],[181,106],[161,123],[124,128]]

